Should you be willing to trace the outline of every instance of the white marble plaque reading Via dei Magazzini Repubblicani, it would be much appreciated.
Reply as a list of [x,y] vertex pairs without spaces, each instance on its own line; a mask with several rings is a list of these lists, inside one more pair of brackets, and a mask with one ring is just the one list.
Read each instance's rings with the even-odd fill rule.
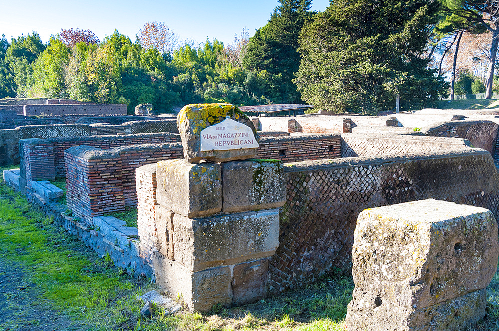
[[251,128],[230,118],[201,131],[201,152],[257,147]]

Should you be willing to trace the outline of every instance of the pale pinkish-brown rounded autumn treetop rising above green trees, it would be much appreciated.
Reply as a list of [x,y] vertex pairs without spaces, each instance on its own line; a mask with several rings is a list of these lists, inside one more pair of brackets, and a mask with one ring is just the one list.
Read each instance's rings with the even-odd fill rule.
[[139,41],[144,48],[156,48],[162,54],[172,53],[175,45],[179,41],[177,33],[173,32],[163,22],[145,23],[139,31]]

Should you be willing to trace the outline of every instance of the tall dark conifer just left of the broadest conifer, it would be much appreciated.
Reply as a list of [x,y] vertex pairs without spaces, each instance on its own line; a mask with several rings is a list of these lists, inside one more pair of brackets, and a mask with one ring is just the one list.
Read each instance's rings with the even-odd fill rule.
[[279,89],[273,96],[275,103],[300,103],[300,94],[292,82],[298,71],[300,55],[298,38],[306,19],[310,17],[311,0],[279,0],[268,23],[250,38],[243,59],[246,69],[266,70]]

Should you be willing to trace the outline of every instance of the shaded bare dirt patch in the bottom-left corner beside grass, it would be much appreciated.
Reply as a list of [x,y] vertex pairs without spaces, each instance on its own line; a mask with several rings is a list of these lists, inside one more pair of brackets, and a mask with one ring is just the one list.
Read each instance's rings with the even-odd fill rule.
[[38,298],[36,284],[29,282],[19,265],[0,257],[0,331],[84,330]]

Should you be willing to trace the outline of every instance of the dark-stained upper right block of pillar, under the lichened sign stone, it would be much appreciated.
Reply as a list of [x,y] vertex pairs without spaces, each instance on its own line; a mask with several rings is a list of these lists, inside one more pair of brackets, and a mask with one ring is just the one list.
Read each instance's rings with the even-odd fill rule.
[[223,212],[278,208],[286,202],[284,165],[279,160],[222,164]]

